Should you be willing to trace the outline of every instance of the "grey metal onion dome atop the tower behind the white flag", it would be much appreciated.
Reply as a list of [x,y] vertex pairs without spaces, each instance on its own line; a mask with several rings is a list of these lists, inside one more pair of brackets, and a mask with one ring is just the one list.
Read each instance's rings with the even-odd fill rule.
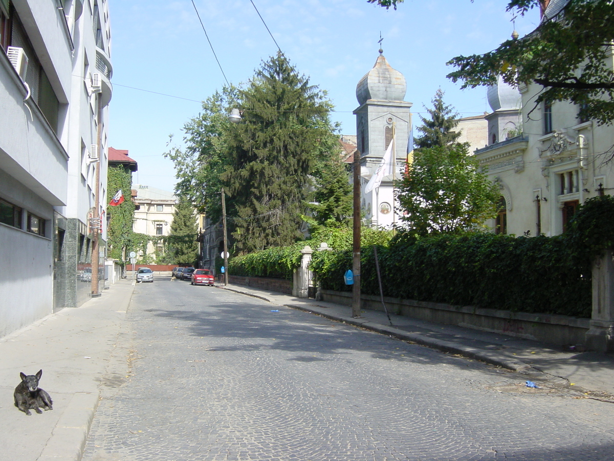
[[405,77],[389,65],[382,53],[383,51],[379,50],[375,66],[356,85],[356,99],[359,104],[367,100],[403,101],[405,98]]

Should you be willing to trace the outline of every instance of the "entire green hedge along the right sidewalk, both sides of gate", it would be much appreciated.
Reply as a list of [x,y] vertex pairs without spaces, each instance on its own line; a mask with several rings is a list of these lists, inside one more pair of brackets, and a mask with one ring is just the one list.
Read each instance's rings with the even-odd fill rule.
[[[233,258],[231,274],[292,280],[303,246],[315,250],[324,241],[334,242],[335,251],[314,251],[317,280],[324,289],[350,291],[343,275],[352,268],[351,229],[323,230],[313,241]],[[379,295],[377,245],[384,296],[589,318],[591,263],[614,246],[614,198],[586,200],[569,230],[555,237],[397,234],[390,240],[389,233],[366,230],[362,245],[365,294]]]

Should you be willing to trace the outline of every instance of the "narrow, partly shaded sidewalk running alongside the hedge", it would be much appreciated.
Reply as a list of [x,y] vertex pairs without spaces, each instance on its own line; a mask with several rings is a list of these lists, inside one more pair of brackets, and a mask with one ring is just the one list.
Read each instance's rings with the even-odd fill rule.
[[251,286],[220,286],[226,290],[255,296],[273,304],[305,310],[349,325],[360,326],[404,341],[464,355],[503,368],[522,372],[528,380],[548,380],[559,386],[614,403],[614,355],[596,352],[563,350],[529,339],[489,333],[453,325],[440,325],[385,312],[362,310],[360,318],[352,318],[349,306],[298,299]]

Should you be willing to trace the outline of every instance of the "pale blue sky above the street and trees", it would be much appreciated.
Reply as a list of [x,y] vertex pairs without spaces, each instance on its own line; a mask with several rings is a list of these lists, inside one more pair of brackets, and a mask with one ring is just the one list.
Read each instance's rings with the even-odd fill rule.
[[[489,111],[486,89],[461,90],[446,79],[446,61],[483,53],[510,37],[505,0],[405,0],[386,10],[366,0],[253,0],[298,71],[328,92],[332,119],[356,134],[356,84],[375,64],[379,34],[384,56],[405,75],[414,114],[439,87],[462,116]],[[206,33],[233,84],[246,82],[277,47],[250,0],[194,0]],[[192,0],[109,0],[113,98],[109,146],[138,162],[134,183],[173,191],[173,163],[162,154],[169,135],[181,146],[182,127],[199,101],[225,84]],[[538,12],[516,18],[523,36]],[[158,94],[160,93],[160,94]],[[419,117],[414,115],[414,124]]]

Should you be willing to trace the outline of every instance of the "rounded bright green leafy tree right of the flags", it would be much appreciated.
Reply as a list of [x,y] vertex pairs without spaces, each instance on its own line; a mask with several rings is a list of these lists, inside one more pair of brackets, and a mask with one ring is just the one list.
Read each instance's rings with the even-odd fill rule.
[[414,235],[458,234],[494,218],[499,192],[468,144],[418,149],[398,188],[401,220]]

